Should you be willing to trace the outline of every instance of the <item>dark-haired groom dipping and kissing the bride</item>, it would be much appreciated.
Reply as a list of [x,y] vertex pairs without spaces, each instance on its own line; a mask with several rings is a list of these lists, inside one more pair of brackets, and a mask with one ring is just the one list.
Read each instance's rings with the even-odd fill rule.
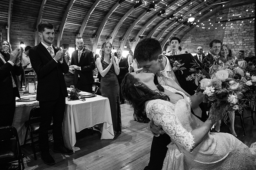
[[[191,74],[189,68],[192,66],[193,56],[191,54],[181,54],[168,56],[167,58],[167,56],[161,55],[161,53],[160,42],[152,38],[146,38],[137,44],[133,58],[142,66],[144,72],[155,74],[155,84],[169,85],[179,91],[185,91],[184,93],[188,96],[193,95],[197,86],[192,81],[186,81],[186,77]],[[180,63],[184,63],[181,66],[186,68],[182,70],[183,74],[180,70],[172,69],[169,59],[174,61],[181,60]],[[202,98],[203,94],[199,92],[198,97]],[[199,108],[199,111],[202,112],[202,115],[206,115],[203,103],[200,105],[201,109]],[[192,110],[191,112],[193,113]],[[206,116],[198,118],[202,121],[207,119]],[[161,170],[168,149],[167,145],[170,144],[171,139],[160,126],[156,127],[152,122],[150,126],[154,137],[151,145],[150,160],[144,170]]]

